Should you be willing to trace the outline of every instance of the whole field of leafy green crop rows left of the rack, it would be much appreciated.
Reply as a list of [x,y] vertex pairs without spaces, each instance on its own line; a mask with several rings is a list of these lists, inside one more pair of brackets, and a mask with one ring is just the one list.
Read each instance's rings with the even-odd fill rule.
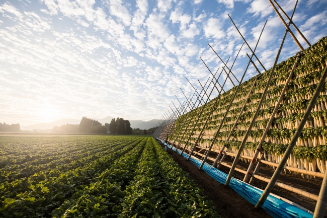
[[218,217],[152,137],[0,136],[1,217]]

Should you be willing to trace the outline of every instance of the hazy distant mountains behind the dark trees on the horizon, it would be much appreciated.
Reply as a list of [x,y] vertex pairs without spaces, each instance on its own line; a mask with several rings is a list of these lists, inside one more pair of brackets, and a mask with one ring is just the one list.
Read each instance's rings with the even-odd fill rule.
[[[105,125],[105,123],[110,123],[110,121],[113,119],[111,116],[107,116],[102,119],[98,118],[90,118],[99,121],[102,125]],[[132,128],[140,128],[140,129],[149,129],[154,126],[157,126],[157,121],[156,119],[154,120],[149,120],[149,121],[143,121],[143,120],[130,120],[130,124]],[[79,124],[80,119],[61,119],[61,120],[56,120],[50,123],[38,123],[34,125],[29,125],[29,126],[21,126],[22,130],[32,130],[32,129],[38,129],[38,130],[44,130],[44,129],[52,129],[54,126],[61,126],[65,124]]]

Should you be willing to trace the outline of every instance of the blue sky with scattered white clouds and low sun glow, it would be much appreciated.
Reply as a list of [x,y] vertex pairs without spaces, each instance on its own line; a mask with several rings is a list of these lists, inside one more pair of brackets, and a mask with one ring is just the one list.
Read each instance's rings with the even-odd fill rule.
[[[294,0],[278,3],[292,13]],[[271,68],[285,27],[268,0],[0,0],[0,122],[160,119],[172,101],[178,107],[175,95],[185,100],[181,89],[193,95],[185,78],[198,91],[207,81],[200,57],[213,72],[223,66],[208,43],[231,67],[243,41],[227,14],[252,48],[268,19],[256,55]],[[327,1],[299,1],[293,21],[315,43],[327,35]],[[288,35],[279,62],[298,51]],[[238,80],[246,53],[244,45],[231,69]],[[254,75],[250,66],[244,81]],[[227,80],[224,90],[232,87]]]

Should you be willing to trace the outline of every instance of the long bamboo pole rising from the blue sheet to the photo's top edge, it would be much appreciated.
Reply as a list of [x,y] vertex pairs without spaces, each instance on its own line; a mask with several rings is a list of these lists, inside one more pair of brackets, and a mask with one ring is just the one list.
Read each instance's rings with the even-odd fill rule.
[[[295,9],[294,9],[294,11],[295,11]],[[294,14],[294,11],[293,11],[293,14]],[[293,16],[292,16],[292,17],[293,17]],[[256,110],[256,113],[255,113],[255,115],[254,115],[254,117],[253,117],[253,119],[252,119],[252,121],[251,121],[251,123],[250,123],[250,126],[249,126],[249,128],[248,128],[248,130],[247,130],[247,132],[246,132],[246,134],[245,134],[245,136],[244,136],[244,138],[243,138],[243,140],[242,140],[240,146],[239,146],[239,149],[238,149],[238,152],[237,152],[236,158],[235,158],[234,161],[233,161],[233,164],[232,164],[232,167],[231,167],[231,169],[230,169],[230,171],[229,171],[229,174],[228,174],[228,176],[227,176],[227,179],[226,179],[225,185],[229,185],[230,179],[231,179],[231,177],[232,177],[232,175],[233,175],[233,173],[234,173],[234,169],[235,169],[236,164],[237,164],[237,162],[238,162],[238,158],[239,158],[239,156],[240,156],[240,154],[241,154],[241,152],[242,152],[242,150],[243,150],[243,148],[244,148],[244,146],[245,146],[245,143],[247,142],[247,139],[248,139],[248,137],[249,137],[249,135],[250,135],[250,132],[251,132],[251,130],[252,130],[252,127],[253,127],[253,125],[255,124],[255,121],[256,121],[256,119],[257,119],[257,117],[258,117],[258,115],[259,115],[259,112],[260,112],[261,106],[262,106],[262,104],[263,104],[263,102],[264,102],[264,100],[265,100],[265,97],[266,97],[266,94],[267,94],[267,91],[268,91],[268,88],[269,88],[269,85],[270,85],[270,82],[271,82],[271,79],[273,78],[273,75],[274,75],[274,72],[275,72],[275,68],[276,68],[276,65],[277,65],[277,62],[278,62],[278,58],[279,58],[280,52],[282,51],[282,48],[283,48],[283,45],[284,45],[284,41],[285,41],[286,35],[287,35],[287,31],[285,31],[285,34],[284,34],[284,37],[283,37],[282,43],[281,43],[281,45],[280,45],[280,47],[279,47],[279,50],[278,50],[278,53],[277,53],[277,56],[276,56],[276,59],[275,59],[275,62],[274,62],[273,68],[272,68],[272,70],[271,70],[270,76],[269,76],[269,78],[268,78],[268,82],[267,82],[267,84],[266,84],[266,87],[265,87],[264,93],[262,94],[262,97],[261,97],[261,100],[260,100],[260,102],[259,102],[259,105],[258,105],[258,108],[257,108],[257,110]]]

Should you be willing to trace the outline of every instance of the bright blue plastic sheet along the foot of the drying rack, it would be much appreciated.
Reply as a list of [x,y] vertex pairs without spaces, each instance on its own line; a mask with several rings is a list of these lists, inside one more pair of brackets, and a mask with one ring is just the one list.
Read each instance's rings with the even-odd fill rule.
[[[158,138],[157,138],[158,139]],[[160,140],[160,139],[158,139]],[[160,140],[163,144],[165,144],[168,148],[172,148],[169,144],[165,143],[165,141]],[[176,148],[173,147],[173,150],[176,151]],[[180,150],[177,151],[177,153],[181,154],[182,152]],[[189,155],[183,153],[184,158],[188,158]],[[190,161],[197,167],[200,167],[201,161],[191,157]],[[225,181],[227,179],[227,174],[221,172],[220,170],[212,167],[211,165],[205,163],[202,167],[202,169],[212,178],[217,180],[218,182],[225,184]],[[229,186],[234,189],[239,195],[247,199],[252,204],[256,204],[262,195],[262,190],[257,189],[247,183],[244,183],[238,179],[231,178]],[[271,216],[275,218],[279,217],[299,217],[299,218],[312,218],[313,215],[305,210],[302,210],[288,202],[285,202],[281,199],[278,199],[272,195],[269,195],[267,200],[265,201],[262,208]]]

